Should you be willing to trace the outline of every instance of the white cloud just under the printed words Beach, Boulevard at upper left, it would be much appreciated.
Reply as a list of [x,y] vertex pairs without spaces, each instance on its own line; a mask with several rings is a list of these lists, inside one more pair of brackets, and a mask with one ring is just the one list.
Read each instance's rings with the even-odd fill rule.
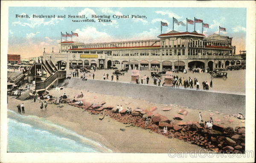
[[59,20],[63,20],[63,18],[51,18],[49,21],[45,21],[44,18],[33,18],[32,15],[33,14],[30,15],[29,19],[27,19],[27,22],[16,21],[12,22],[12,25],[29,26],[30,28],[35,28],[40,25],[54,25],[55,23],[58,23]]

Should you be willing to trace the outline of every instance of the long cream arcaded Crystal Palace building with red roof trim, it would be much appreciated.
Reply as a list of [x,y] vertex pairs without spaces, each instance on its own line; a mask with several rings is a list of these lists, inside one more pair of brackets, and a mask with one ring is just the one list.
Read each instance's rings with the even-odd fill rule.
[[83,43],[61,42],[59,53],[44,52],[59,68],[96,66],[99,69],[169,70],[180,71],[200,67],[212,70],[229,65],[240,65],[241,56],[235,55],[232,37],[196,32],[170,31],[157,39],[123,42]]

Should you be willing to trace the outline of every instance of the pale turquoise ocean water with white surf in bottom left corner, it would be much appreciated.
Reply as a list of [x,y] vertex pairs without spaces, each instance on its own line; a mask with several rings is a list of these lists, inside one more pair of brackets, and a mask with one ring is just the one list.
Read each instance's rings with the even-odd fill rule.
[[44,118],[8,110],[8,152],[112,152]]

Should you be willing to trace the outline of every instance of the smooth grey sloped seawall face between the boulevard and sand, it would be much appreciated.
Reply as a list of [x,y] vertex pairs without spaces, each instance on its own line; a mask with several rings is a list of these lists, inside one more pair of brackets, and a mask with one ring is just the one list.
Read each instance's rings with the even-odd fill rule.
[[89,90],[106,95],[142,98],[157,104],[176,104],[230,115],[238,113],[245,115],[244,95],[90,79],[82,81],[78,78],[67,79],[64,82],[68,82],[67,87],[70,88]]

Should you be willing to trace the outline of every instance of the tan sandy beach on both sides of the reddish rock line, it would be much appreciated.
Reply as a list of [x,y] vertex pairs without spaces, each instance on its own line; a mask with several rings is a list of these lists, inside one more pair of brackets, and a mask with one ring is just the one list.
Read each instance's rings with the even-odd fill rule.
[[[230,126],[235,128],[236,126],[244,126],[244,123],[240,119],[235,118],[234,115],[224,115],[222,113],[215,113],[206,110],[191,109],[188,107],[152,104],[142,99],[133,99],[121,96],[103,95],[99,93],[93,93],[85,90],[75,90],[72,88],[64,88],[63,90],[49,90],[49,94],[53,97],[59,97],[64,93],[68,98],[73,99],[74,96],[83,92],[83,99],[90,101],[94,104],[105,101],[105,106],[116,107],[117,104],[122,105],[124,109],[131,107],[133,110],[137,107],[149,110],[150,107],[156,106],[158,109],[154,112],[159,112],[162,115],[172,119],[174,115],[177,115],[177,110],[183,108],[187,110],[188,115],[184,116],[183,121],[198,121],[198,112],[202,113],[203,120],[208,121],[210,117],[213,120],[220,120],[218,124],[222,126]],[[41,101],[33,102],[32,99],[26,101],[20,101],[15,97],[10,97],[8,101],[8,109],[17,112],[17,104],[24,103],[26,115],[35,115],[38,117],[46,118],[55,124],[59,124],[68,129],[77,132],[79,135],[84,135],[94,141],[102,143],[107,146],[113,152],[122,153],[167,153],[170,148],[175,148],[177,151],[193,150],[199,151],[201,147],[194,144],[190,144],[176,138],[167,138],[163,135],[151,132],[148,129],[142,129],[139,127],[131,127],[128,124],[117,122],[113,118],[105,116],[100,121],[99,118],[102,115],[92,115],[89,112],[83,112],[81,108],[73,107],[68,104],[61,104],[63,107],[57,107],[55,104],[48,104],[47,111],[40,110]],[[61,106],[60,105],[60,106]],[[170,108],[169,111],[163,111],[164,108]],[[230,122],[232,121],[232,122]],[[177,120],[173,120],[175,124]],[[123,131],[120,129],[124,129]],[[201,151],[202,152],[202,151]]]

